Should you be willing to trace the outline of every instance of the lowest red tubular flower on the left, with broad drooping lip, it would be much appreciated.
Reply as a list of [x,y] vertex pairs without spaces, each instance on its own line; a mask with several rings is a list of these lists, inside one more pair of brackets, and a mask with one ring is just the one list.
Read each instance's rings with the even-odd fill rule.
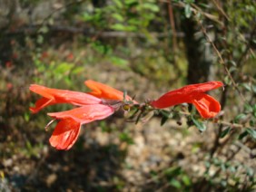
[[70,149],[78,138],[81,125],[94,120],[103,120],[112,115],[114,109],[102,104],[85,105],[73,110],[48,113],[49,116],[60,120],[49,139],[56,149]]

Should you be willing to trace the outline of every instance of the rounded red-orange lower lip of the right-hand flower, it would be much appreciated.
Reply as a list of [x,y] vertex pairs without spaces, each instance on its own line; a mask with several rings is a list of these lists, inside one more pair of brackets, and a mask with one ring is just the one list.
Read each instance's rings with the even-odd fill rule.
[[192,104],[199,111],[202,118],[206,119],[215,117],[221,110],[221,104],[219,101],[216,101],[210,95],[205,93],[198,94],[194,97]]

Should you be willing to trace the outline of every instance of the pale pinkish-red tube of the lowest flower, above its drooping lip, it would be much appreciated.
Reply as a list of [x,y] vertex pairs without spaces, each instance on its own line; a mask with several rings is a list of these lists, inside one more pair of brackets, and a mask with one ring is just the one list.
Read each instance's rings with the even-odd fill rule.
[[47,113],[49,116],[63,120],[73,119],[81,124],[88,123],[94,120],[103,120],[114,112],[113,108],[107,105],[94,104],[84,105],[83,107],[75,108],[73,110],[65,110],[62,112]]

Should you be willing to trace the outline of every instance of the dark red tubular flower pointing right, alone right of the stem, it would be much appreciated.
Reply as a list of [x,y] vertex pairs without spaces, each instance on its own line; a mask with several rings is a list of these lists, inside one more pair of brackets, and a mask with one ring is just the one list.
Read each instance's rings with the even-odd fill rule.
[[202,118],[213,118],[220,110],[221,105],[206,91],[211,91],[222,87],[222,82],[204,82],[182,87],[181,89],[169,91],[162,95],[158,100],[151,101],[150,104],[157,109],[171,107],[183,102],[192,103],[199,111]]

